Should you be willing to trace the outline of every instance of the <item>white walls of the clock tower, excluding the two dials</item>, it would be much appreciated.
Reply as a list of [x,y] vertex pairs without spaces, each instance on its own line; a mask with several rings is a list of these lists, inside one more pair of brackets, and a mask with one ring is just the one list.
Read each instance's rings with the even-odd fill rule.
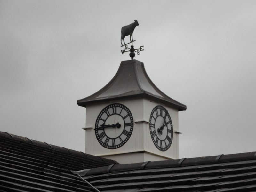
[[[112,103],[121,103],[129,108],[134,121],[130,139],[117,149],[107,149],[101,146],[94,132],[96,118],[100,111]],[[166,108],[172,119],[173,140],[171,147],[167,151],[158,150],[150,136],[149,118],[152,109],[157,105],[162,105]],[[167,107],[163,103],[140,98],[88,104],[86,106],[85,130],[85,153],[113,159],[121,164],[179,158],[178,134],[174,133],[174,130],[179,130],[178,109]]]

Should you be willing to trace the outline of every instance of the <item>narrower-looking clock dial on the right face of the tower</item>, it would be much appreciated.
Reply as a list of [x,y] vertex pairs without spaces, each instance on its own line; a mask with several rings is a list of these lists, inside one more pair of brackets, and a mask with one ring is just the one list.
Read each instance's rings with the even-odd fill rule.
[[172,144],[172,119],[161,105],[156,106],[150,114],[150,135],[156,148],[166,151]]

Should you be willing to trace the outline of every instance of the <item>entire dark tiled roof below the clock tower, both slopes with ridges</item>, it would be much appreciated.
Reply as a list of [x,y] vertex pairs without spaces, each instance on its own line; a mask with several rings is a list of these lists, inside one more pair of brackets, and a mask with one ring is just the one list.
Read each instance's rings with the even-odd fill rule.
[[0,132],[0,192],[96,191],[85,180],[102,192],[256,191],[256,152],[117,164]]

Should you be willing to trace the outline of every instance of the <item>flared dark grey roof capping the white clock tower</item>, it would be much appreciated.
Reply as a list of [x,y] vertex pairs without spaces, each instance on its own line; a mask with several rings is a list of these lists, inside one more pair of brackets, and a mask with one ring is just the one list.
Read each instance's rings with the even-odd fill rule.
[[159,101],[178,108],[179,111],[187,109],[186,105],[160,91],[148,77],[144,64],[138,60],[122,61],[116,75],[106,86],[91,96],[77,100],[77,104],[86,107],[89,103],[132,97]]

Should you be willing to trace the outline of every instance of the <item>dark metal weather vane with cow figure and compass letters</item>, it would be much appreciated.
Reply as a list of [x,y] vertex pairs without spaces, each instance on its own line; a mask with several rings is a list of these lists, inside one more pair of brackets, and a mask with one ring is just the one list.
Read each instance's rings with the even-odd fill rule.
[[[134,46],[133,44],[131,45],[131,48],[128,47],[128,44],[134,42],[135,40],[133,40],[132,38],[132,34],[133,34],[133,31],[135,29],[136,26],[139,25],[138,21],[137,20],[134,20],[135,22],[131,23],[130,25],[126,25],[124,27],[122,27],[121,29],[121,47],[125,46],[125,48],[123,50],[121,50],[122,54],[124,54],[125,52],[130,52],[130,57],[133,59],[133,57],[135,57],[135,53],[137,53],[137,55],[140,54],[140,51],[143,51],[144,50],[144,46],[140,46],[140,48],[138,49],[134,49]],[[124,41],[124,37],[125,36],[128,36],[130,35],[130,42],[125,44],[124,42],[124,45],[123,45],[123,41]]]

